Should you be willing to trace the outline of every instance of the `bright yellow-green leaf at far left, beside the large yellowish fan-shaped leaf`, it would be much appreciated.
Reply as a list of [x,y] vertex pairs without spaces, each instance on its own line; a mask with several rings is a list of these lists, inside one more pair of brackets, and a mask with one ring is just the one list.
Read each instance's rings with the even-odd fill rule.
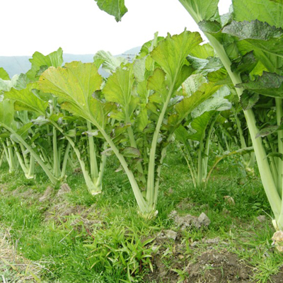
[[21,90],[11,88],[11,91],[6,92],[4,97],[16,101],[18,105],[17,110],[28,110],[40,113],[40,115],[45,115],[48,103],[37,98],[37,96],[33,94],[32,88],[33,84],[28,84],[26,88]]

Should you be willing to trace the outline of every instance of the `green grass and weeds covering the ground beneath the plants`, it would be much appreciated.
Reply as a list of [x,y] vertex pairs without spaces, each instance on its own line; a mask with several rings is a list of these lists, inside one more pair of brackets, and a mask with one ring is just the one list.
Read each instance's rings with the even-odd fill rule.
[[[278,272],[283,257],[271,246],[271,219],[267,216],[265,224],[255,219],[260,214],[271,214],[258,177],[247,178],[244,185],[239,185],[236,166],[228,166],[227,170],[224,163],[207,188],[195,188],[178,153],[171,150],[165,163],[154,219],[137,214],[127,177],[114,173],[113,168],[118,167],[115,158],[108,161],[103,193],[95,197],[88,194],[81,174],[69,173],[71,193],[62,203],[67,203],[72,213],[49,218],[47,214],[51,214],[57,200],[38,202],[38,196],[50,185],[45,175],[38,169],[36,180],[25,180],[23,174],[8,174],[7,168],[1,168],[0,185],[6,189],[0,199],[0,223],[11,226],[11,242],[18,252],[43,262],[42,282],[154,282],[148,281],[146,274],[156,268],[151,248],[160,244],[156,235],[164,229],[178,231],[178,243],[184,249],[180,266],[207,249],[203,238],[219,237],[228,243],[226,250],[250,262],[257,282],[267,282]],[[235,205],[225,202],[226,195],[233,197]],[[196,216],[205,212],[212,223],[208,229],[180,231],[168,217],[173,210]],[[197,250],[190,247],[194,241],[200,243]],[[159,246],[168,272],[185,279],[182,268],[174,267],[175,242]]]

